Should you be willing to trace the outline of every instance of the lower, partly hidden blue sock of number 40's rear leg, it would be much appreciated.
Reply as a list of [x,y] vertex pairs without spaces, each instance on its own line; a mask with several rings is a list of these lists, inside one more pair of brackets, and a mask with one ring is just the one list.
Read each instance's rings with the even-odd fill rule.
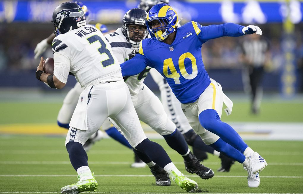
[[210,144],[209,146],[213,147],[218,152],[224,153],[226,156],[243,163],[245,160],[245,156],[239,151],[236,150],[234,147],[223,141],[219,138],[215,143]]

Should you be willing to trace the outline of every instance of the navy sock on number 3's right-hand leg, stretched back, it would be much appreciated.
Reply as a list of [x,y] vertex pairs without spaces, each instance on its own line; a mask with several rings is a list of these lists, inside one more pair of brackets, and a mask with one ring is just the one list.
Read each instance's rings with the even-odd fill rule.
[[135,147],[140,152],[146,154],[152,161],[158,164],[161,168],[164,168],[168,163],[171,163],[171,159],[159,144],[149,139],[143,140]]

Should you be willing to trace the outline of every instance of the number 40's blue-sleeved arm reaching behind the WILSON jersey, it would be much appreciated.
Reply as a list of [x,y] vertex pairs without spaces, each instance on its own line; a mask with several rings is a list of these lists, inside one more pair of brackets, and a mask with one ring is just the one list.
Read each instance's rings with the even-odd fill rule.
[[120,64],[122,76],[134,76],[145,70],[146,66],[150,66],[144,55],[136,54],[131,60],[127,60]]

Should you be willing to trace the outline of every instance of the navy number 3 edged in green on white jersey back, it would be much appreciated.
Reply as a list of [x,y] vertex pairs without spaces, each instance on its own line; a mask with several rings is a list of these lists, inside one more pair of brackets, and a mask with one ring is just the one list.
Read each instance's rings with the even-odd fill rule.
[[105,53],[108,56],[108,59],[101,61],[101,64],[102,64],[103,67],[107,67],[107,66],[110,66],[110,65],[115,63],[115,60],[112,57],[111,52],[106,48],[106,44],[102,40],[101,37],[99,37],[98,35],[93,35],[93,36],[87,38],[86,40],[88,40],[88,42],[90,44],[93,44],[96,41],[100,42],[101,47],[99,47],[97,50],[99,51],[100,54]]

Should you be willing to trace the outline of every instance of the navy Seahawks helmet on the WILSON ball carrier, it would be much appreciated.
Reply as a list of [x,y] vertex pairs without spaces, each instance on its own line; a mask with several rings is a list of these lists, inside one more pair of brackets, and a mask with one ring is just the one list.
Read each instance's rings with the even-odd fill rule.
[[55,27],[55,35],[64,34],[86,25],[85,13],[76,3],[62,3],[55,8],[52,23]]

